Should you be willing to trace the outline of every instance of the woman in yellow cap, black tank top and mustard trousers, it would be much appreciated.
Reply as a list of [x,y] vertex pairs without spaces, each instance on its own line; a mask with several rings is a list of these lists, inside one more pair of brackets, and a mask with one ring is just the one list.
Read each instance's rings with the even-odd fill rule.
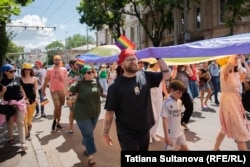
[[24,119],[25,134],[26,138],[30,138],[33,115],[35,113],[36,104],[38,103],[38,90],[37,79],[34,77],[32,65],[29,63],[22,64],[21,86],[23,87],[27,100],[27,114]]

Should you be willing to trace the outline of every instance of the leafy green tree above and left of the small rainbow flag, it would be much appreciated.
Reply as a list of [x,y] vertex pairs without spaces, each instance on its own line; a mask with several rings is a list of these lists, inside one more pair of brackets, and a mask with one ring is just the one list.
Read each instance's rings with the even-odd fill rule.
[[81,15],[80,23],[85,23],[97,31],[108,26],[111,36],[117,38],[124,34],[124,16],[121,10],[126,3],[126,0],[81,0],[76,9]]

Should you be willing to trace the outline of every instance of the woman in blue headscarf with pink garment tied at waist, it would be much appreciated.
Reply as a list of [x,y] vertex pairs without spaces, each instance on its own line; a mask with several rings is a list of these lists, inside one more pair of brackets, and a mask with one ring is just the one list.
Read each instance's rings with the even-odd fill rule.
[[25,92],[20,84],[20,77],[15,76],[16,69],[11,64],[5,64],[2,66],[3,78],[1,79],[1,92],[3,104],[13,105],[16,108],[16,115],[12,116],[7,121],[8,130],[8,143],[13,144],[13,123],[14,117],[17,124],[19,133],[19,141],[21,143],[22,150],[26,150],[28,147],[25,144],[24,134],[24,117],[26,114],[26,102]]

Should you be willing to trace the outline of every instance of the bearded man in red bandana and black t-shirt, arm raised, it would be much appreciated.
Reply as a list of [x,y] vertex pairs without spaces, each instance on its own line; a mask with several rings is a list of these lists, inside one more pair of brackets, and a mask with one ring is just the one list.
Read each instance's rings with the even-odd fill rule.
[[162,59],[158,63],[161,72],[143,71],[134,50],[125,49],[119,55],[118,64],[124,73],[110,85],[105,104],[103,140],[108,145],[113,143],[109,130],[115,114],[121,150],[148,150],[149,130],[155,124],[150,88],[170,78],[166,63]]

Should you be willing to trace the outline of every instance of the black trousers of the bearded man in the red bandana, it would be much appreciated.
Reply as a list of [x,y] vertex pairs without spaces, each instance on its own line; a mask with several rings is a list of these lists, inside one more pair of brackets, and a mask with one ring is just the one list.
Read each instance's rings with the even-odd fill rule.
[[121,151],[148,151],[149,131],[146,133],[117,132]]

